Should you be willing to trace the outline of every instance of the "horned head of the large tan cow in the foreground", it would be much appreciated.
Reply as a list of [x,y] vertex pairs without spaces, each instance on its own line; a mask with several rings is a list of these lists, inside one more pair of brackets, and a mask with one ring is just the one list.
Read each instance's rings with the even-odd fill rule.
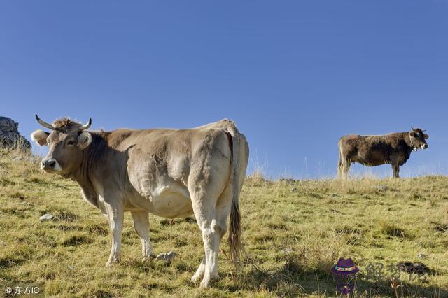
[[43,122],[37,114],[36,120],[43,127],[51,129],[51,132],[38,129],[31,134],[31,139],[38,145],[49,147],[48,155],[42,159],[41,169],[47,173],[61,175],[78,169],[82,162],[83,150],[92,142],[92,135],[84,132],[92,124],[92,118],[85,125],[69,118],[62,118],[50,124]]

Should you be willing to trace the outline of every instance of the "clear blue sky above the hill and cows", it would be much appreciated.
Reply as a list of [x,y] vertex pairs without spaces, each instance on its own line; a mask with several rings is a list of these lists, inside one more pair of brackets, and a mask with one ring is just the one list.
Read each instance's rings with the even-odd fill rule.
[[412,125],[429,148],[402,176],[448,173],[447,15],[442,0],[1,1],[0,115],[25,136],[34,113],[94,129],[232,118],[272,178],[334,176],[340,136]]

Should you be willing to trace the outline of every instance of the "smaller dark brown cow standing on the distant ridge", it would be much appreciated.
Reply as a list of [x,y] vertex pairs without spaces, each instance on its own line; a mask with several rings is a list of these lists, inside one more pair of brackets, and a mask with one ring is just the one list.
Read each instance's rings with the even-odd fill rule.
[[393,177],[398,178],[400,166],[407,162],[412,150],[428,148],[428,134],[413,128],[410,132],[395,132],[379,136],[349,134],[339,139],[339,178],[347,178],[350,166],[358,162],[365,166],[392,164]]

